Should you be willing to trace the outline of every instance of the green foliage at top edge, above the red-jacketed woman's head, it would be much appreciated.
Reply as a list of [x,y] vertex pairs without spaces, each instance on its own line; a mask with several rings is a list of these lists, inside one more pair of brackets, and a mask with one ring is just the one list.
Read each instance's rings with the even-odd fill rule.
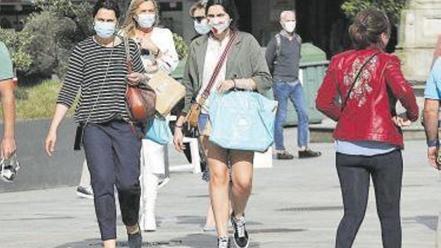
[[359,11],[377,8],[387,14],[392,25],[397,25],[405,4],[406,0],[346,0],[341,9],[352,19]]

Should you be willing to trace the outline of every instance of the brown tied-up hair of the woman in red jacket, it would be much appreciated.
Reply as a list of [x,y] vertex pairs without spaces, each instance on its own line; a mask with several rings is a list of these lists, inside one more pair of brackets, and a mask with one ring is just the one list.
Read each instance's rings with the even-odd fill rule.
[[384,49],[381,34],[390,36],[390,22],[384,12],[378,9],[361,11],[349,27],[349,38],[355,49]]

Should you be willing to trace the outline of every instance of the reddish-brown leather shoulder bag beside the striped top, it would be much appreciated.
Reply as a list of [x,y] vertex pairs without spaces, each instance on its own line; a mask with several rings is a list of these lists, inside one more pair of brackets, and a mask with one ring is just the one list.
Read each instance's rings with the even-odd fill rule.
[[[132,60],[130,56],[129,42],[124,37],[124,46],[126,49],[128,74],[132,73]],[[142,84],[142,85],[140,85]],[[132,85],[127,82],[126,89],[126,107],[131,120],[146,124],[155,114],[156,93],[145,82],[138,85]]]

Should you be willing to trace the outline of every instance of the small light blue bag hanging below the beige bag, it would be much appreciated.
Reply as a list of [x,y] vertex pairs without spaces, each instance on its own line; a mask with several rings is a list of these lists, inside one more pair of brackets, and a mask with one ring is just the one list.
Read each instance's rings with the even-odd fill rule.
[[168,127],[167,120],[155,116],[147,122],[147,132],[145,138],[160,145],[166,145],[173,140],[173,135]]

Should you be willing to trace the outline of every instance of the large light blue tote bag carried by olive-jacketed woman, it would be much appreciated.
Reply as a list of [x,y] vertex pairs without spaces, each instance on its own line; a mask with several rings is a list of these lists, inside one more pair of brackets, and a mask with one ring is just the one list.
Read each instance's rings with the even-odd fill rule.
[[264,152],[274,143],[276,108],[276,101],[256,92],[213,92],[209,140],[226,149]]

